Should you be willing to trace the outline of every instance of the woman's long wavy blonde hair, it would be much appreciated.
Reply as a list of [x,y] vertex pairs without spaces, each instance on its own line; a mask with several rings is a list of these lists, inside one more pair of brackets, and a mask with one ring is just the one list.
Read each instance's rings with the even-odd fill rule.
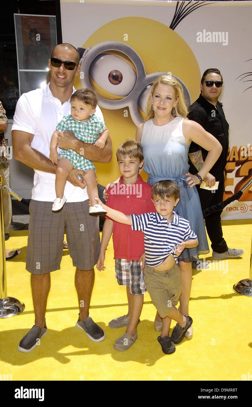
[[157,78],[152,85],[151,88],[151,94],[149,96],[148,102],[147,102],[147,107],[146,107],[146,119],[144,122],[147,120],[153,119],[154,113],[151,112],[151,95],[155,93],[155,88],[159,83],[162,83],[163,85],[169,85],[172,86],[175,90],[175,95],[176,98],[179,98],[178,103],[175,106],[175,112],[176,116],[179,117],[187,117],[188,114],[188,109],[185,104],[185,98],[183,94],[183,88],[182,85],[177,81],[177,79],[170,77],[169,75],[162,75],[161,77]]

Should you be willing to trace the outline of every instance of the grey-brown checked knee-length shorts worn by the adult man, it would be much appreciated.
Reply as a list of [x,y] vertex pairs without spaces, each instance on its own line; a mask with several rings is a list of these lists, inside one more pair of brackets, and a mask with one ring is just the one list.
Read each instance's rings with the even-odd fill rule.
[[88,199],[66,202],[60,212],[52,212],[52,202],[32,199],[29,209],[27,271],[45,274],[60,269],[65,228],[73,266],[93,269],[100,249],[99,216],[88,214]]

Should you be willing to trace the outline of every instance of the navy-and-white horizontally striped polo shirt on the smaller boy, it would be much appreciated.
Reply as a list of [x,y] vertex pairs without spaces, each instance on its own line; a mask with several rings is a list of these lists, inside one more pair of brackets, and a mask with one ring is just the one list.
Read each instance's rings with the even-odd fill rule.
[[169,254],[173,254],[176,263],[179,264],[174,246],[190,239],[197,239],[189,222],[177,215],[174,210],[172,213],[174,217],[170,223],[167,223],[167,219],[158,212],[131,215],[132,230],[141,230],[144,233],[145,263],[148,267],[159,266]]

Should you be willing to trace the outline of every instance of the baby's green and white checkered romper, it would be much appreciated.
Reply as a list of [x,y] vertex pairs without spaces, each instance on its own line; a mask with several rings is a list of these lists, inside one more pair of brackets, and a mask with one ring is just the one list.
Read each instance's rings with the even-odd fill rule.
[[[76,120],[68,114],[64,116],[60,123],[58,123],[56,130],[58,131],[72,131],[78,140],[84,141],[85,143],[93,144],[97,140],[99,133],[106,129],[105,123],[98,117],[93,114],[90,116],[90,119],[87,122],[81,122]],[[93,164],[93,161],[87,160],[82,155],[76,153],[71,149],[69,150],[60,150],[59,158],[67,158],[72,164],[73,168],[78,170],[95,170],[96,168]]]

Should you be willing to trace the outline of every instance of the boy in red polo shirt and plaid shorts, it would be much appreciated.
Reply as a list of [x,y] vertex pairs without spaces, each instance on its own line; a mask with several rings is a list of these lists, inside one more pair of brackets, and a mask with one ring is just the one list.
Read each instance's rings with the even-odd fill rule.
[[[131,215],[156,212],[151,201],[151,185],[142,180],[139,170],[144,164],[142,146],[136,140],[123,142],[116,151],[116,158],[122,176],[117,184],[108,189],[106,205]],[[144,282],[144,235],[135,232],[130,225],[112,221],[106,216],[103,225],[101,248],[97,269],[104,270],[105,252],[113,233],[116,279],[119,285],[126,286],[129,310],[127,315],[112,319],[110,328],[127,326],[126,332],[116,339],[116,350],[129,349],[138,337],[136,328],[144,302],[146,285]]]

